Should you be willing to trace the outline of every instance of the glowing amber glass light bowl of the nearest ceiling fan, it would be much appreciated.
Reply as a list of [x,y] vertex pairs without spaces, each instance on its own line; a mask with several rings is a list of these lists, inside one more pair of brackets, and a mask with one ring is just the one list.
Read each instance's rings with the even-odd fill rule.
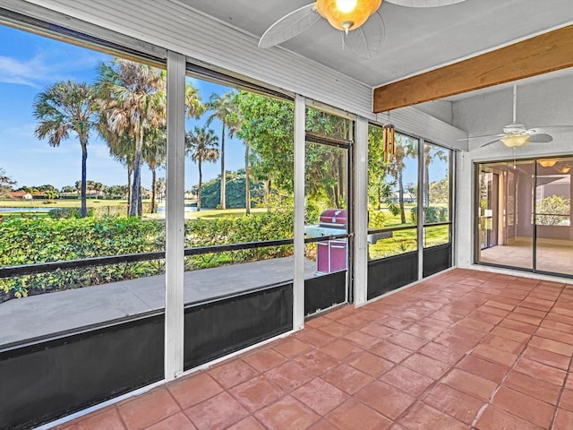
[[380,7],[381,0],[317,0],[316,10],[341,31],[356,30]]

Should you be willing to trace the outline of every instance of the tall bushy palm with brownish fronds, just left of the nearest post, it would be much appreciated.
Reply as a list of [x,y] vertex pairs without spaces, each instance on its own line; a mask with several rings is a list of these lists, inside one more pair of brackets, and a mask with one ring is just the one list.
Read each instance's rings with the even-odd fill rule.
[[165,83],[165,73],[148,64],[116,58],[111,64],[99,65],[98,104],[107,128],[135,142],[130,216],[141,215],[144,137],[166,124]]

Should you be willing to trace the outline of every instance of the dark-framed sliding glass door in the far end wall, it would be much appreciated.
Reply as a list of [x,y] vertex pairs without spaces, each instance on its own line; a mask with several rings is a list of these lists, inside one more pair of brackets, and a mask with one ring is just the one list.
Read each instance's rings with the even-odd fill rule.
[[571,158],[477,166],[475,261],[573,275]]

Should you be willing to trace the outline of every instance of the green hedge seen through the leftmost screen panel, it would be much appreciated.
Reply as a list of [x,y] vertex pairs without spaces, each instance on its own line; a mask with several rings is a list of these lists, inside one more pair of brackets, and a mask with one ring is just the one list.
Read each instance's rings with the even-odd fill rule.
[[[78,260],[164,249],[164,224],[139,218],[5,219],[0,223],[0,266]],[[53,271],[0,280],[4,300],[150,276],[163,263],[138,262]],[[0,300],[2,297],[0,297]]]

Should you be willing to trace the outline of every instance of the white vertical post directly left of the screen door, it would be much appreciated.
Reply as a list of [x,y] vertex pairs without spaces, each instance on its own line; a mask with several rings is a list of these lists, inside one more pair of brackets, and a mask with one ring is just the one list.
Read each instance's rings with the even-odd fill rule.
[[293,285],[293,330],[304,327],[304,150],[306,104],[295,98],[295,279]]

